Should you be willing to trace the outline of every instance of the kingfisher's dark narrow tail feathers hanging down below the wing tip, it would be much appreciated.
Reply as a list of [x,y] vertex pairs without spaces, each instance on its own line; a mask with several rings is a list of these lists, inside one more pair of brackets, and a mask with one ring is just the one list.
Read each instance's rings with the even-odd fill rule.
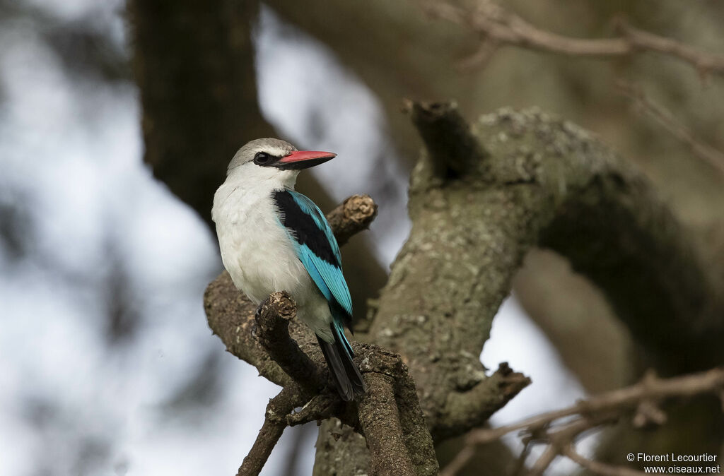
[[359,368],[352,361],[354,352],[341,326],[336,323],[332,323],[330,326],[332,327],[334,342],[330,344],[319,336],[317,336],[317,340],[321,352],[324,354],[324,359],[327,360],[334,386],[337,387],[342,400],[350,401],[355,398],[355,395],[363,394],[366,387]]

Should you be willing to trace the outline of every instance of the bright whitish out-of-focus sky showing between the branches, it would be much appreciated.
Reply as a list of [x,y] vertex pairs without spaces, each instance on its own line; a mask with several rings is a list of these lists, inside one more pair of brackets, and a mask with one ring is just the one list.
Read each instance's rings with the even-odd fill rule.
[[[59,22],[93,14],[127,51],[118,1],[25,5]],[[220,269],[215,237],[143,163],[135,86],[72,76],[38,25],[0,22],[0,211],[12,211],[21,247],[0,245],[0,476],[234,474],[278,387],[211,336],[201,296]],[[263,114],[297,143],[348,159],[314,170],[336,200],[384,195],[370,234],[389,265],[410,225],[406,172],[379,160],[395,156],[382,107],[328,48],[271,9],[256,34]],[[298,64],[311,72],[303,81],[274,75]],[[339,103],[354,107],[332,111]],[[111,343],[109,289],[140,322]],[[584,396],[514,297],[481,358],[534,381],[494,425]],[[180,399],[207,368],[220,375],[213,391]],[[287,430],[262,474],[282,472],[299,431]],[[314,438],[303,433],[300,475],[311,474]]]

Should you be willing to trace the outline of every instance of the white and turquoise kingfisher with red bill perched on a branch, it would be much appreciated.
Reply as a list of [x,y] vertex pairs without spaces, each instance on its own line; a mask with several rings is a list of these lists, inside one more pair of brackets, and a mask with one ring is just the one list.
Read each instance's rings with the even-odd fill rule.
[[252,140],[229,163],[211,218],[237,289],[256,305],[288,292],[298,318],[316,334],[337,392],[350,401],[365,392],[365,383],[345,337],[352,298],[340,247],[319,207],[294,190],[301,170],[336,156],[279,139]]

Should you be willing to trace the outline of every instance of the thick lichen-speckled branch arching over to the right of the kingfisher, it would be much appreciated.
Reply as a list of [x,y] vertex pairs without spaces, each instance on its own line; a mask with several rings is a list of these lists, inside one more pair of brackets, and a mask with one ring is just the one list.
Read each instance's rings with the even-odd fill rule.
[[[450,106],[417,107],[428,124],[455,124],[435,117],[449,117]],[[487,376],[478,356],[513,274],[536,245],[597,283],[639,341],[670,357],[665,368],[720,361],[717,271],[644,177],[587,132],[539,111],[457,123],[455,136],[473,137],[486,164],[441,179],[439,144],[426,143],[411,178],[413,229],[369,331],[408,363],[434,438],[481,425],[505,404],[500,386],[511,376],[511,395],[524,386],[520,375]],[[421,129],[426,141],[439,137]]]

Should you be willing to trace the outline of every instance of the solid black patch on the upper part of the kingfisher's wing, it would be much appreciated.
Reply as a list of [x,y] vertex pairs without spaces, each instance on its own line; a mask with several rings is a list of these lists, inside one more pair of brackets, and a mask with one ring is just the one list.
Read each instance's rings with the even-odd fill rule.
[[341,266],[324,231],[317,226],[312,216],[302,210],[288,190],[274,190],[271,192],[271,198],[282,212],[282,216],[279,217],[282,225],[294,233],[300,245],[306,245],[311,252],[327,263]]

